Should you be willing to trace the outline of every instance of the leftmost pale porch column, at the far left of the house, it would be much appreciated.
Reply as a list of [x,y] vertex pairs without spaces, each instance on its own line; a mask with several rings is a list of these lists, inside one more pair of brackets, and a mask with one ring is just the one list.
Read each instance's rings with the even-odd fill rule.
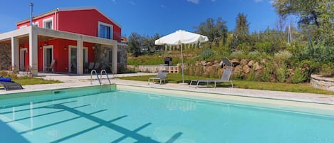
[[11,37],[11,70],[19,71],[19,38]]

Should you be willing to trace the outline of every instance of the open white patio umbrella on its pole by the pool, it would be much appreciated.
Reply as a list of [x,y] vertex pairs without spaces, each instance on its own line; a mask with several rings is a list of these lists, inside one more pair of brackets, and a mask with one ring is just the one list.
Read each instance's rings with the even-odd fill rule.
[[183,53],[182,53],[182,43],[192,44],[192,43],[203,43],[207,42],[209,39],[207,36],[202,36],[197,33],[191,33],[188,31],[175,31],[167,36],[163,36],[155,41],[155,45],[168,45],[168,46],[181,46],[181,68],[182,68],[182,83],[184,84],[184,72],[183,72]]

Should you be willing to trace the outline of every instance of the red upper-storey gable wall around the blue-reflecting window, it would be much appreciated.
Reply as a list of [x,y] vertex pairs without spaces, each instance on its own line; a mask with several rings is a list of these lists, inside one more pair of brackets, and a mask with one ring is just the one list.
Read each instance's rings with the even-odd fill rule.
[[58,30],[98,36],[98,21],[113,25],[113,40],[120,42],[121,28],[95,9],[58,12]]

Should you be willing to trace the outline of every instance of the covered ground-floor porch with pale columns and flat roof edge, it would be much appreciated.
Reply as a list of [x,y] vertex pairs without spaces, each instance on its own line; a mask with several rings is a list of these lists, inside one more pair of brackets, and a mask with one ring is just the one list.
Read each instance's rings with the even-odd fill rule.
[[[45,72],[46,67],[55,60],[56,72],[75,72],[81,75],[84,73],[84,63],[99,62],[94,56],[103,49],[110,51],[108,61],[111,72],[117,73],[117,41],[28,26],[0,34],[0,53],[7,55],[0,57],[3,61],[0,63],[0,70],[16,72],[28,69],[32,75],[37,75],[38,71]],[[75,70],[72,69],[73,65]]]

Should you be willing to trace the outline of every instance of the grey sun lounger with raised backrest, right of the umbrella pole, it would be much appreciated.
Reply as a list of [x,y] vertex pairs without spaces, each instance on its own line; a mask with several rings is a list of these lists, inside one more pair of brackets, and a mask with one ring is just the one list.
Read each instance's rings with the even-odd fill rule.
[[232,68],[225,68],[219,80],[191,80],[189,86],[192,85],[192,82],[197,83],[196,87],[198,87],[199,83],[207,83],[207,85],[209,85],[209,83],[214,83],[214,88],[216,88],[216,83],[218,82],[229,82],[233,88],[232,80],[229,79],[231,77],[231,73]]

